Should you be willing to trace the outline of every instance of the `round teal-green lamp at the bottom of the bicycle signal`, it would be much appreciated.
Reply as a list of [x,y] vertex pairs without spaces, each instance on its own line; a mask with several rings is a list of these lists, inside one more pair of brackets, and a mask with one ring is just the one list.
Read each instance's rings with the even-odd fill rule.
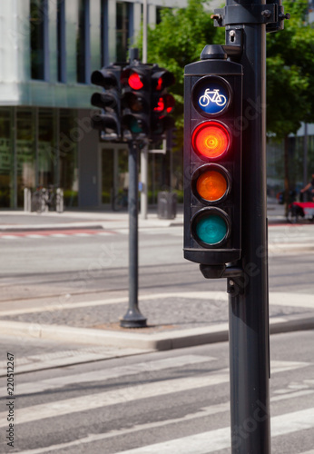
[[218,214],[208,213],[196,218],[194,222],[198,239],[208,245],[222,242],[228,233],[226,221]]

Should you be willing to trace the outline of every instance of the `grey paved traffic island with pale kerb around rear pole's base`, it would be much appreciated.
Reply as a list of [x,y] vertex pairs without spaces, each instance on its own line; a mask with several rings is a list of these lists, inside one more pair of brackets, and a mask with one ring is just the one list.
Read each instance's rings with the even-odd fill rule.
[[[138,329],[120,327],[119,319],[128,308],[126,295],[97,301],[59,300],[54,304],[27,301],[25,306],[19,301],[15,309],[2,304],[0,332],[126,350],[171,350],[228,340],[224,291],[141,294],[139,307],[148,326]],[[313,295],[270,293],[270,333],[309,329],[314,329]]]

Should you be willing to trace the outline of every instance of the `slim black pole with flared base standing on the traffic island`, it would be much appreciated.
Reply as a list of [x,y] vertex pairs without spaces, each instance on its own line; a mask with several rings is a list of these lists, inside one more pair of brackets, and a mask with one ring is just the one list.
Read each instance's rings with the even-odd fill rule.
[[123,328],[142,328],[146,318],[138,305],[139,290],[139,242],[138,242],[138,147],[129,143],[129,308],[120,325]]

